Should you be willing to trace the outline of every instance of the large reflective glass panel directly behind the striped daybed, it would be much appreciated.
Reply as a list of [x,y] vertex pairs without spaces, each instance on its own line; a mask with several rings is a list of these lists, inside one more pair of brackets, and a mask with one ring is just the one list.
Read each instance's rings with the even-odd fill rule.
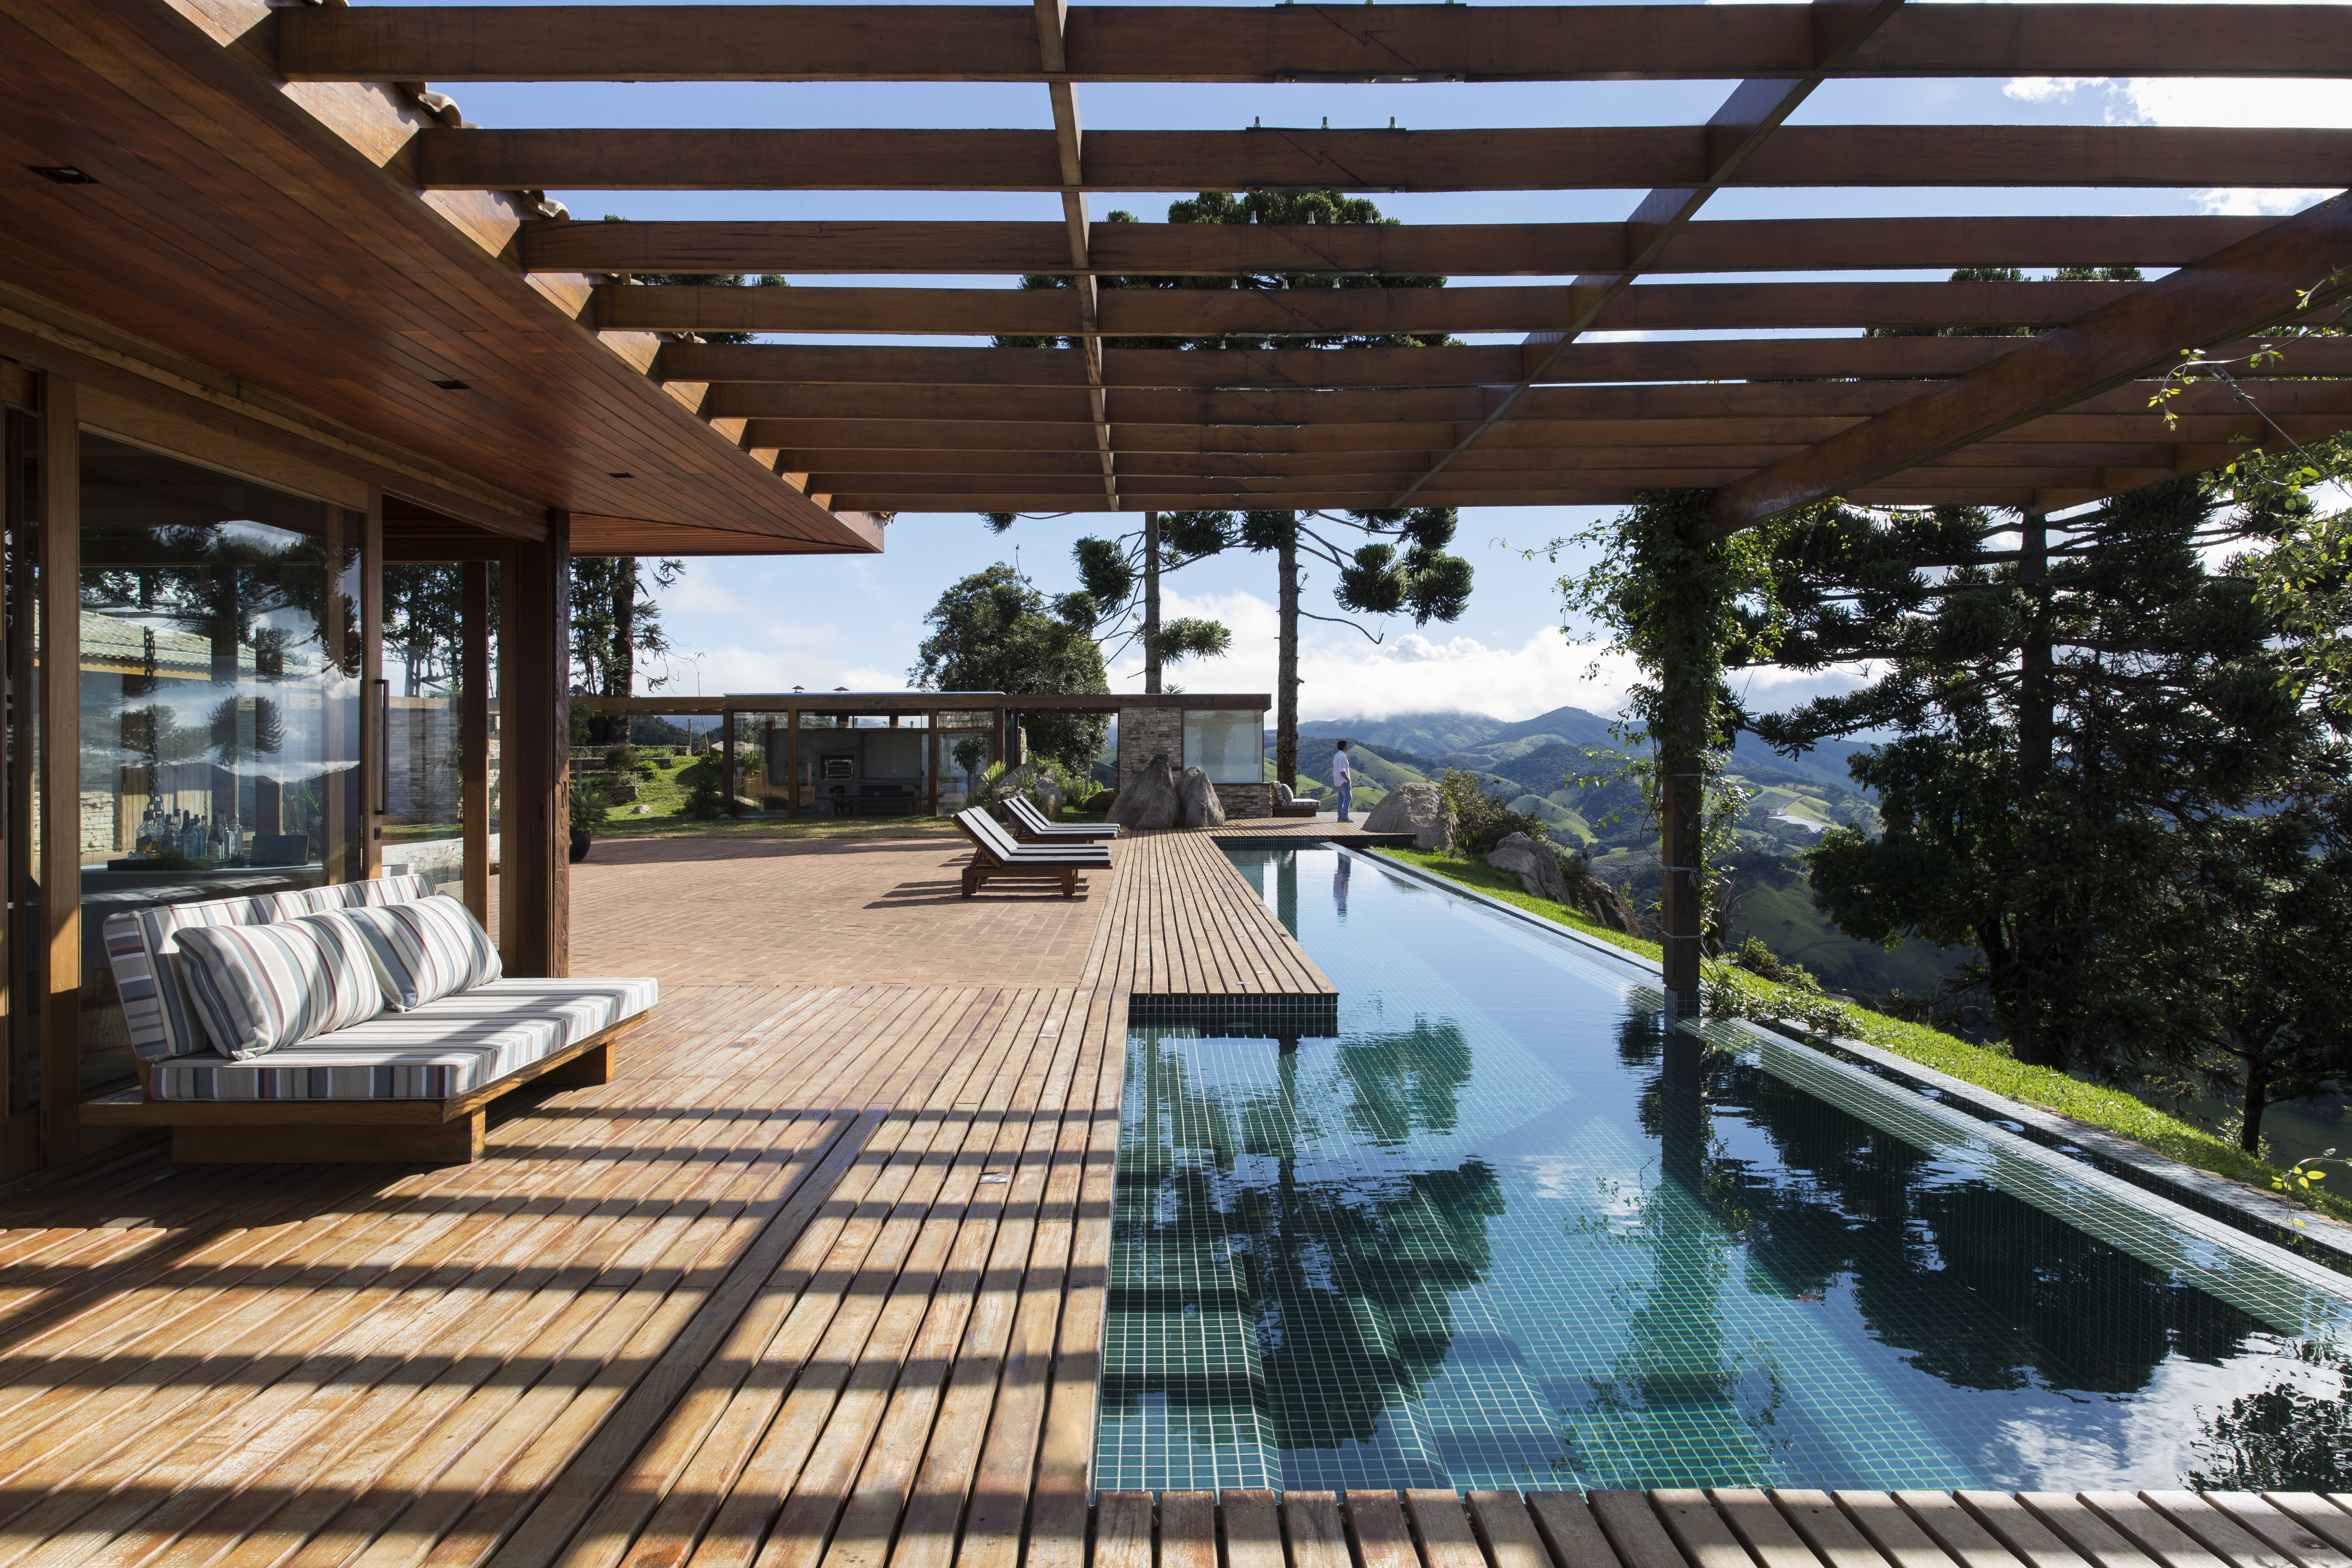
[[106,917],[365,877],[367,517],[82,435],[82,1086],[134,1072]]

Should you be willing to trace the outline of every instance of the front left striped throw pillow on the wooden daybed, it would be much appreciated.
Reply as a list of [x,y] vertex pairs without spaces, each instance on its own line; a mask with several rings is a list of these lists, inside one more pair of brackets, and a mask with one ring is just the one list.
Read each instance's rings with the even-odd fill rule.
[[383,1011],[367,943],[341,914],[191,926],[179,933],[179,976],[212,1048],[233,1060],[348,1030]]

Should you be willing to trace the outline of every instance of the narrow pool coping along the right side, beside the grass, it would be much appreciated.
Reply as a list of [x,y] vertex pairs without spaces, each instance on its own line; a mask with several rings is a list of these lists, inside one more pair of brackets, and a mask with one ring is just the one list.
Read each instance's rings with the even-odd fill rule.
[[[1345,844],[1334,844],[1329,839],[1324,839],[1324,844],[1338,849],[1341,853],[1348,853],[1350,849]],[[1515,903],[1494,898],[1491,893],[1482,893],[1472,886],[1463,886],[1458,882],[1451,882],[1449,877],[1425,872],[1406,860],[1392,860],[1390,856],[1378,856],[1378,860],[1383,867],[1395,870],[1402,877],[1423,882],[1458,898],[1472,898],[1486,905],[1489,910],[1501,910],[1503,914],[1510,914],[1512,919],[1519,919],[1529,926],[1536,926],[1552,936],[1566,936],[1573,943],[1590,947],[1592,952],[1609,954],[1639,971],[1656,973],[1651,961],[1644,959],[1639,952],[1630,952],[1625,947],[1618,947],[1616,943],[1604,943],[1597,936],[1578,931],[1576,926],[1564,926],[1557,919],[1545,919],[1534,910],[1522,910]],[[2070,1159],[2070,1164],[2100,1171],[2103,1168],[2100,1161],[2110,1161],[2114,1166],[2122,1166],[2119,1171],[2112,1173],[2119,1180],[2126,1180],[2145,1192],[2183,1204],[2183,1208],[2187,1208],[2190,1213],[2204,1213],[2204,1206],[2218,1208],[2223,1213],[2216,1213],[2211,1218],[2216,1218],[2223,1225],[2230,1225],[2232,1229],[2256,1241],[2263,1241],[2265,1246],[2277,1246],[2279,1251],[2296,1255],[2288,1244],[2310,1244],[2328,1255],[2331,1262],[2324,1267],[2331,1267],[2338,1274],[2352,1274],[2352,1227],[2319,1211],[2303,1208],[2300,1204],[2293,1204],[2286,1197],[2267,1194],[2258,1187],[2246,1187],[2244,1182],[2232,1182],[2230,1178],[2213,1175],[2211,1171],[2199,1171],[2197,1166],[2187,1166],[2166,1154],[2157,1154],[2147,1145],[2133,1143],[2119,1133],[2110,1133],[2105,1128],[2091,1126],[2089,1121],[2077,1121],[2072,1117],[2060,1117],[2058,1112],[2042,1110],[2039,1105],[2025,1105],[2023,1100],[2011,1100],[2009,1095],[1994,1093],[1983,1084],[1971,1084],[1969,1079],[1952,1077],[1950,1072],[1929,1067],[1926,1063],[1915,1063],[1907,1056],[1896,1056],[1893,1051],[1884,1051],[1882,1046],[1872,1046],[1860,1039],[1846,1039],[1842,1034],[1806,1034],[1799,1030],[1776,1030],[1759,1025],[1750,1018],[1724,1018],[1715,1023],[1733,1023],[1745,1027],[1748,1032],[1762,1034],[1764,1039],[1773,1039],[1780,1044],[1799,1044],[1811,1051],[1818,1051],[1820,1056],[1828,1056],[1830,1060],[1837,1060],[1839,1056],[1851,1056],[1867,1070],[1872,1070],[1872,1077],[1900,1084],[1903,1088],[1917,1093],[1922,1100],[1929,1100],[1933,1105],[1957,1107],[1976,1117],[1978,1121],[1992,1124],[1997,1131],[2006,1131],[1999,1128],[2002,1121],[2016,1121],[2020,1128],[2027,1131],[2027,1143],[2032,1143],[2032,1147],[2037,1150],[2044,1150],[2060,1159],[2070,1159],[2063,1147],[2053,1147],[2053,1143],[2044,1140],[2056,1140],[2056,1145],[2072,1145],[2091,1159],[2079,1159],[2079,1161]],[[2042,1138],[2032,1138],[2030,1133],[2039,1133]]]

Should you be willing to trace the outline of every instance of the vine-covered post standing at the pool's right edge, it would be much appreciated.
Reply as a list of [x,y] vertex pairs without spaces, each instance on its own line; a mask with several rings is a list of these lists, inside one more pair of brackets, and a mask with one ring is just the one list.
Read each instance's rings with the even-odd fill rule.
[[1788,625],[1773,550],[1790,524],[1708,538],[1710,494],[1642,491],[1632,510],[1543,548],[1552,562],[1569,545],[1602,550],[1583,576],[1559,578],[1562,597],[1644,675],[1618,736],[1651,750],[1630,771],[1658,818],[1665,990],[1677,1006],[1696,1006],[1710,929],[1719,938],[1729,917],[1722,853],[1743,802],[1722,783],[1736,717],[1724,670],[1771,658]]

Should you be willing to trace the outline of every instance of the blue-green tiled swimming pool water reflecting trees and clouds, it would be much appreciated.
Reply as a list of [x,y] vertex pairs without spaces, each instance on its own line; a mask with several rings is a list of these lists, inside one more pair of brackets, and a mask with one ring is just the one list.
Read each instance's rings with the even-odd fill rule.
[[1230,856],[1341,1030],[1129,1034],[1098,1488],[2352,1481],[2352,1281],[1374,858]]

